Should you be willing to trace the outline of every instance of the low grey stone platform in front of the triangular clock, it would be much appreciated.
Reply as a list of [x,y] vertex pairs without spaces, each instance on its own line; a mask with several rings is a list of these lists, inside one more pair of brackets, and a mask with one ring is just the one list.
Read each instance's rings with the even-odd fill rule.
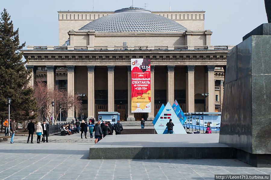
[[219,134],[122,134],[90,147],[90,159],[235,159]]

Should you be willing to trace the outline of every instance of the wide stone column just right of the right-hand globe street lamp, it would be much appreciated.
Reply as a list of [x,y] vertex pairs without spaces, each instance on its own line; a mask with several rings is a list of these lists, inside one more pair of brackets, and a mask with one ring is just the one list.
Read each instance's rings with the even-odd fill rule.
[[215,112],[215,81],[214,81],[214,71],[215,65],[206,65],[206,93],[209,96],[206,97],[206,112]]

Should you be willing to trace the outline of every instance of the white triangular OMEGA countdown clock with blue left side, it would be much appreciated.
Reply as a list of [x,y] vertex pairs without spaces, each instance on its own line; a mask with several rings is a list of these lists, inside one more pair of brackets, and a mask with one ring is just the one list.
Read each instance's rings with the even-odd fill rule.
[[161,108],[159,109],[159,113],[157,113],[154,119],[156,121],[155,122],[153,121],[153,124],[157,134],[168,133],[166,124],[169,122],[169,119],[172,119],[172,122],[174,124],[173,126],[174,134],[187,134],[169,102],[166,104],[164,108],[162,108],[161,106]]

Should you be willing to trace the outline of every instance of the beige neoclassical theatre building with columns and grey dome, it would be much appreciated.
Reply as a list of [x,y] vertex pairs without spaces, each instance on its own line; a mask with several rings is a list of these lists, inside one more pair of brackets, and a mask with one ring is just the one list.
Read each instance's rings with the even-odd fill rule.
[[[88,118],[117,111],[121,120],[152,120],[162,103],[175,99],[184,112],[221,111],[227,52],[233,46],[211,45],[204,14],[131,7],[58,11],[59,45],[23,50],[33,70],[29,85],[45,81],[48,88],[84,93]],[[131,58],[151,59],[150,113],[131,113]],[[71,109],[67,119],[79,114]]]

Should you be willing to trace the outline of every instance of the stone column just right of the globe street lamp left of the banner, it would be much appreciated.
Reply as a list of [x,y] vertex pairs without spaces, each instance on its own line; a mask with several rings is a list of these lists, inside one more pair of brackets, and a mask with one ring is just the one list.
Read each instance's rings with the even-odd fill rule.
[[95,66],[87,66],[87,116],[95,117],[95,91],[94,91],[94,68]]

